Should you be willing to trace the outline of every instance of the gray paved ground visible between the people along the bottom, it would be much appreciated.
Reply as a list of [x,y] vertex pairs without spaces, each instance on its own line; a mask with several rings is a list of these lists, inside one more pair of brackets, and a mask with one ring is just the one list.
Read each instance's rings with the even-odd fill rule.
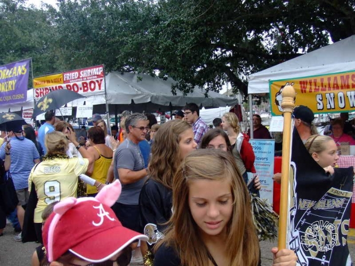
[[[1,266],[28,266],[31,265],[31,255],[37,243],[21,243],[13,240],[13,229],[8,225],[4,236],[0,237],[0,265]],[[262,266],[272,265],[271,248],[277,246],[277,241],[260,242]],[[348,246],[352,261],[355,261],[355,229],[348,235]],[[133,265],[132,265],[133,266]]]

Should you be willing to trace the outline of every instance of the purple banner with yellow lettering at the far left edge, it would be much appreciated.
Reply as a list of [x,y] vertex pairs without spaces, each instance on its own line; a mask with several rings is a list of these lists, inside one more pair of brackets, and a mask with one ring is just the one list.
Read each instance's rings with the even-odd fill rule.
[[0,105],[27,100],[30,59],[0,66]]

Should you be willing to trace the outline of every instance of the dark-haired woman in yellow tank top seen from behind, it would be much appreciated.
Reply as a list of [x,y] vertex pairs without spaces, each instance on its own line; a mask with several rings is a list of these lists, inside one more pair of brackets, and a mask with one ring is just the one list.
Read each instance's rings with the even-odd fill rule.
[[112,150],[105,145],[105,132],[100,126],[93,126],[87,131],[87,138],[90,140],[92,146],[87,148],[94,164],[88,167],[87,172],[91,178],[100,182],[95,187],[91,185],[86,186],[87,196],[95,197],[99,191],[99,187],[106,182],[106,176],[110,164],[112,162]]

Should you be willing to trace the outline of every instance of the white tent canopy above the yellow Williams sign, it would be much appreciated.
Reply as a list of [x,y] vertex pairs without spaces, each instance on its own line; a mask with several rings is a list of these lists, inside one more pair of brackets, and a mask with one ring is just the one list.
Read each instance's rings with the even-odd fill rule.
[[355,70],[355,35],[251,74],[248,94],[269,93],[269,81]]

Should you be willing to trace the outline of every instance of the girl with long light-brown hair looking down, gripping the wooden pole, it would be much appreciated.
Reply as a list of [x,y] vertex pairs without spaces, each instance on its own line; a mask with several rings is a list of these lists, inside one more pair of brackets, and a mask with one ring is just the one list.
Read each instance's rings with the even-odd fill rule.
[[[155,266],[257,265],[259,244],[249,193],[233,157],[197,150],[173,178],[173,213],[156,245]],[[288,249],[273,248],[274,263],[296,265]]]

